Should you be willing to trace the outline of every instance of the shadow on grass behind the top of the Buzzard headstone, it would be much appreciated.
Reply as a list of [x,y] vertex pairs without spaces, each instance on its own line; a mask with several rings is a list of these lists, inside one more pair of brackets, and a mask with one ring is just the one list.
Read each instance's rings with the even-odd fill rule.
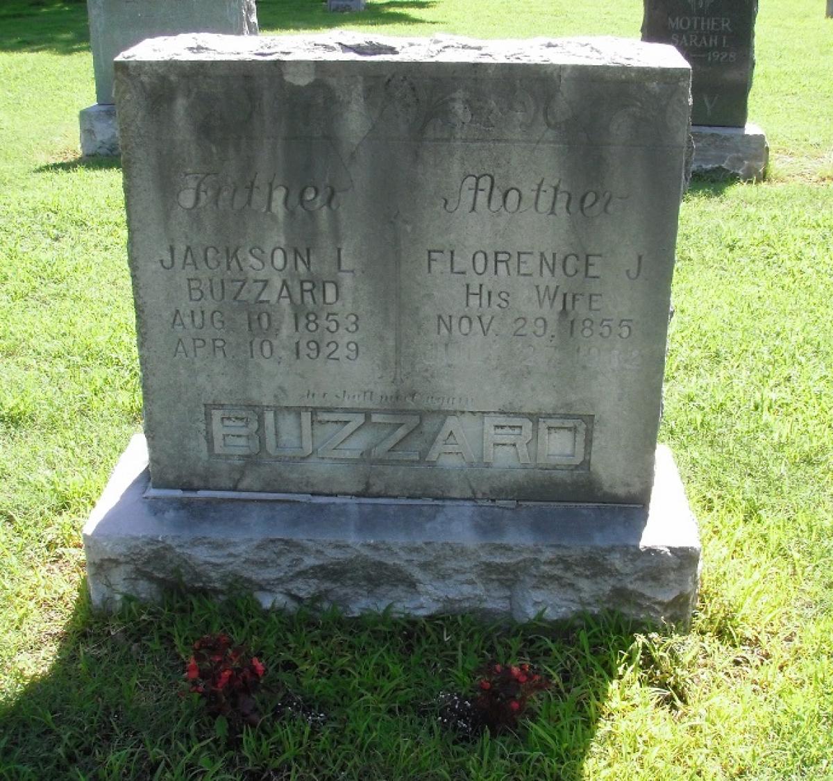
[[327,11],[327,3],[322,0],[257,0],[257,22],[267,33],[325,30],[352,24],[368,27],[427,24],[430,22],[416,17],[412,11],[434,6],[436,0],[371,0],[362,12],[334,13]]

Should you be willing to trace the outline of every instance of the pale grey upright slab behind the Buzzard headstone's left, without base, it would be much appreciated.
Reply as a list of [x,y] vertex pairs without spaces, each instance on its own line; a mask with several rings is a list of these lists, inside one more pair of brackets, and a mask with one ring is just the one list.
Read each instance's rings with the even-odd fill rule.
[[96,99],[112,103],[112,61],[145,38],[179,32],[257,32],[255,0],[87,0]]

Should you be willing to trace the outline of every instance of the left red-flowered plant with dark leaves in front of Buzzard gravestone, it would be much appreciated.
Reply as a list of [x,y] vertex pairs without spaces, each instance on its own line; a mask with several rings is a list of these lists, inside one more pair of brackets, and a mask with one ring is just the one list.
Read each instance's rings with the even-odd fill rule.
[[252,725],[261,719],[253,695],[264,674],[260,659],[232,644],[227,634],[198,639],[185,669],[190,691],[205,699],[209,714]]

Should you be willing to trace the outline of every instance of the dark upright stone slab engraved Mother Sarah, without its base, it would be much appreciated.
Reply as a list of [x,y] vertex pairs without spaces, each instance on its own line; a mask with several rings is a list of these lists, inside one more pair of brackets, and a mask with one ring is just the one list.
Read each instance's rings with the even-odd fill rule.
[[757,0],[645,0],[642,38],[691,63],[691,124],[746,125]]

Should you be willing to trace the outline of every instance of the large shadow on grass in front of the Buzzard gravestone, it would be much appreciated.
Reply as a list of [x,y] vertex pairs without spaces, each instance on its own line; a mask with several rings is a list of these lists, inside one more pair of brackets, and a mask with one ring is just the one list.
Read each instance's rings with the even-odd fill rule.
[[[182,696],[188,649],[219,631],[267,666],[267,718],[237,739]],[[236,779],[578,781],[608,689],[639,637],[612,617],[500,628],[460,616],[264,612],[252,599],[197,596],[105,616],[91,612],[82,586],[52,669],[0,706],[0,777],[196,778],[212,768]],[[551,677],[540,711],[499,738],[441,728],[430,705],[438,694],[471,694],[477,669],[500,659],[529,661]],[[277,718],[276,691],[286,689],[327,723]]]

